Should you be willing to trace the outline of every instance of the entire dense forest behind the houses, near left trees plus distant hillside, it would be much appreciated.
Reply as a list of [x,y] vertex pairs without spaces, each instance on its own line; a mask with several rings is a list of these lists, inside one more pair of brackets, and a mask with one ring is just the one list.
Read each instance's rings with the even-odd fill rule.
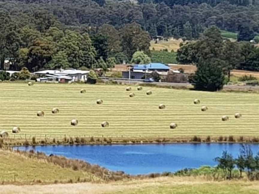
[[257,1],[0,0],[0,60],[9,69],[103,68],[150,55],[150,39],[198,39],[210,26],[259,33]]

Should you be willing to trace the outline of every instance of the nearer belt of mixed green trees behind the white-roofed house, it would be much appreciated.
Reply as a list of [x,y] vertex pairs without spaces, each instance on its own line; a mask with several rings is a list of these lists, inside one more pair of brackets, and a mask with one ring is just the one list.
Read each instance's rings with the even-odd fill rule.
[[[22,19],[0,11],[0,69],[34,72],[58,68],[102,68],[128,62],[135,51],[149,54],[150,36],[137,23],[68,27],[45,10]],[[4,61],[9,63],[5,64]]]

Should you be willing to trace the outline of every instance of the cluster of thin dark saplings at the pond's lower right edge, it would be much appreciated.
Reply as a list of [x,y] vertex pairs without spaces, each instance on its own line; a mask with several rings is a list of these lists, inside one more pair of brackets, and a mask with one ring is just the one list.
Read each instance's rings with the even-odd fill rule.
[[259,179],[259,152],[254,156],[249,145],[242,145],[237,158],[234,158],[227,151],[223,151],[222,156],[216,157],[214,160],[218,163],[217,168],[222,169],[228,179],[233,177],[234,168],[239,170],[240,178],[242,178],[242,173],[245,172],[250,180]]

